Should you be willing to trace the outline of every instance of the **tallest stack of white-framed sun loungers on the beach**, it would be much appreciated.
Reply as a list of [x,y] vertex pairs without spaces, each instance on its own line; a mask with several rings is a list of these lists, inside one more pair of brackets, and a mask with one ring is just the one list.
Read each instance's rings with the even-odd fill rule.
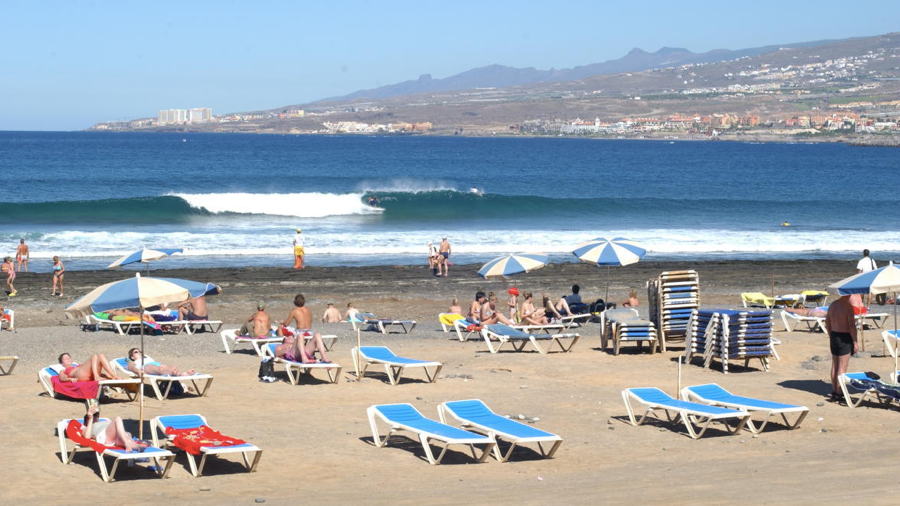
[[700,275],[697,271],[666,271],[647,282],[650,321],[659,332],[662,351],[666,342],[687,335],[691,311],[700,307]]

